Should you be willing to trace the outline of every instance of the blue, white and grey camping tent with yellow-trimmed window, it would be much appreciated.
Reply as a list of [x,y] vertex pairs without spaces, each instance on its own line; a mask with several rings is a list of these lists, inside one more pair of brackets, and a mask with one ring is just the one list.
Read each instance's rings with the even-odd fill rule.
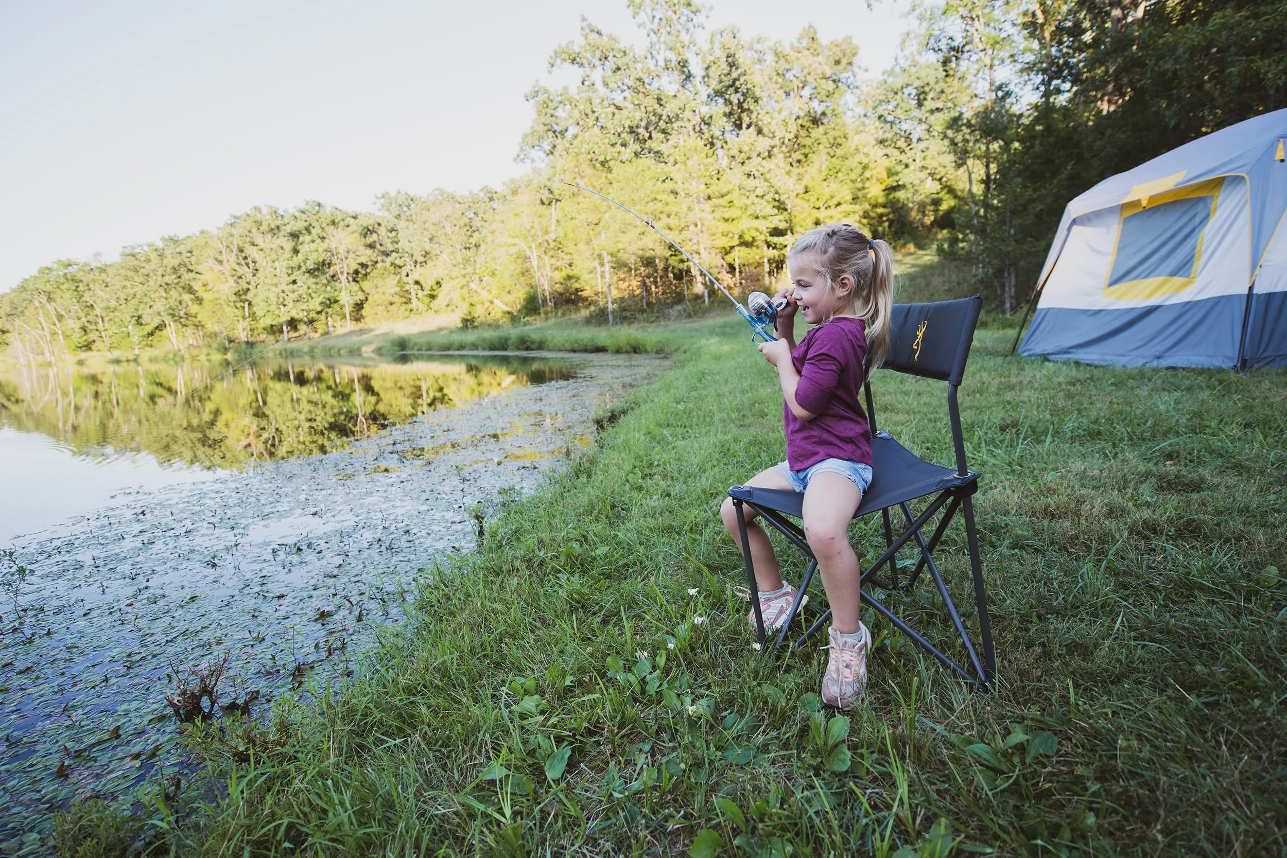
[[1063,212],[1019,354],[1287,365],[1287,109],[1104,179]]

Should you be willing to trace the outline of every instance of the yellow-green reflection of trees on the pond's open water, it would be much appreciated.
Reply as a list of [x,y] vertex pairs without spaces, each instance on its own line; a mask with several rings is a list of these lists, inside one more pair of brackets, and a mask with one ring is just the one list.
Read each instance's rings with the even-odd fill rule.
[[208,361],[0,370],[0,427],[48,435],[82,455],[142,450],[162,464],[223,468],[322,453],[418,414],[573,374],[559,359],[514,355],[229,368]]

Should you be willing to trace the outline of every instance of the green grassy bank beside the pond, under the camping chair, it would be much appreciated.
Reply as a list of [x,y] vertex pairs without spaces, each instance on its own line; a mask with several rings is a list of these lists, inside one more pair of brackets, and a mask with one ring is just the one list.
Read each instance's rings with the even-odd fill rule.
[[[1283,853],[1283,373],[1035,363],[982,331],[961,403],[1000,688],[970,695],[869,619],[869,700],[833,718],[825,651],[766,662],[732,593],[716,508],[781,457],[745,334],[647,334],[674,367],[499,509],[353,687],[210,731],[225,798],[189,849]],[[449,342],[497,347],[483,336]],[[943,390],[875,386],[882,424],[946,461]],[[865,525],[855,539],[878,544]],[[963,543],[946,563],[961,594]],[[932,598],[893,601],[950,641]]]

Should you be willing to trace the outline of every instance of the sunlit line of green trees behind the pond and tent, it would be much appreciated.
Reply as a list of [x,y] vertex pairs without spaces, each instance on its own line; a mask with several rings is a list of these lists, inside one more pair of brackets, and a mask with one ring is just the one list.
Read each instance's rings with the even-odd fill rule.
[[709,301],[704,278],[574,181],[653,219],[730,289],[767,288],[794,237],[848,220],[1027,297],[1068,199],[1287,105],[1287,4],[915,0],[900,60],[712,30],[695,0],[629,0],[644,46],[583,21],[529,93],[529,163],[503,188],[310,202],[59,261],[0,295],[13,358],[184,352],[423,314],[605,322]]

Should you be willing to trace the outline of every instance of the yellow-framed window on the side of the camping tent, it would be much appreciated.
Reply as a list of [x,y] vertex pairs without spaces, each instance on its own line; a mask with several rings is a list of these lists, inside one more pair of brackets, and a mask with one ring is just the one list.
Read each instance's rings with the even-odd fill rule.
[[1193,286],[1221,180],[1124,203],[1104,296],[1139,301]]

